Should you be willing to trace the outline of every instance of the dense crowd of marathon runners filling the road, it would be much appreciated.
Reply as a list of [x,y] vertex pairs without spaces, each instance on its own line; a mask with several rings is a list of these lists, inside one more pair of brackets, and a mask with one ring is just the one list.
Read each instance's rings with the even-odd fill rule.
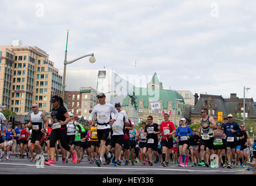
[[190,166],[232,169],[247,165],[250,146],[256,163],[256,140],[250,143],[244,124],[239,126],[231,114],[224,118],[224,123],[216,122],[203,108],[200,127],[191,130],[186,119],[182,118],[176,128],[169,120],[170,113],[163,112],[164,121],[160,125],[148,116],[147,123],[142,122],[140,130],[136,130],[120,103],[115,106],[106,103],[103,93],[97,98],[99,103],[88,119],[89,129],[78,123],[77,116],[67,112],[59,96],[51,99],[54,108],[50,117],[34,103],[30,122],[15,128],[0,113],[0,162],[4,156],[9,160],[15,142],[17,157],[49,166],[55,165],[61,155],[62,163],[80,163],[87,157],[88,163],[98,167],[111,163],[134,166],[135,162],[141,166],[159,163],[163,167],[168,164],[188,167],[190,163]]

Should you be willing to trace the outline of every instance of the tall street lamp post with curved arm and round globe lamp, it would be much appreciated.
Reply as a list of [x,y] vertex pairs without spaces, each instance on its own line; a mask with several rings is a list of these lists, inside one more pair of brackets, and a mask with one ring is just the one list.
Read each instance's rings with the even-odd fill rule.
[[[69,30],[67,30],[67,38],[69,37]],[[84,56],[81,56],[79,58],[76,58],[74,60],[71,60],[70,62],[67,62],[67,42],[66,42],[66,51],[65,51],[65,60],[64,60],[64,70],[63,70],[63,84],[62,84],[62,98],[64,99],[64,92],[65,92],[65,81],[66,81],[66,65],[70,64],[70,63],[73,63],[75,62],[76,60],[79,60],[79,59],[82,59],[82,58],[85,58],[87,56],[91,56],[90,59],[89,59],[89,62],[90,63],[95,63],[96,59],[94,57],[94,53],[91,53],[91,54],[87,54],[87,55],[84,55]]]

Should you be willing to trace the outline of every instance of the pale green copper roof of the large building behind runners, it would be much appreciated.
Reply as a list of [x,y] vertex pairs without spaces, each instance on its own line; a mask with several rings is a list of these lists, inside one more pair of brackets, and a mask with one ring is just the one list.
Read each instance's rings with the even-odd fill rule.
[[[137,98],[135,100],[137,103],[137,106],[138,106],[138,101],[140,99],[143,99],[144,108],[148,108],[149,101],[150,102],[158,102],[161,100],[163,103],[162,104],[163,109],[168,109],[169,101],[172,101],[172,108],[175,108],[175,100],[176,99],[182,99],[182,101],[177,101],[177,102],[184,103],[184,99],[183,99],[182,95],[180,95],[178,92],[172,91],[172,90],[134,87],[134,88],[131,88],[131,90],[129,91],[129,95],[131,95],[133,92],[135,92],[135,96],[137,96]],[[125,101],[123,102],[122,106],[129,106],[129,100],[130,100],[130,97],[126,96]]]

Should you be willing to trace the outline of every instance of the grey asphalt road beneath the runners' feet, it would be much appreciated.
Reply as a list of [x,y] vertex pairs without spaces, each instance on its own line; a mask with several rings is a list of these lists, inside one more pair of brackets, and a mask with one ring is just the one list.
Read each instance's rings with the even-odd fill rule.
[[210,167],[178,167],[177,164],[162,167],[161,164],[151,166],[141,166],[141,163],[134,163],[135,166],[118,166],[114,167],[112,163],[98,167],[95,163],[88,163],[87,158],[81,163],[73,164],[55,162],[55,166],[36,165],[35,162],[30,162],[28,159],[20,159],[11,156],[9,160],[2,159],[0,163],[0,174],[251,174],[245,168],[239,169],[211,169]]

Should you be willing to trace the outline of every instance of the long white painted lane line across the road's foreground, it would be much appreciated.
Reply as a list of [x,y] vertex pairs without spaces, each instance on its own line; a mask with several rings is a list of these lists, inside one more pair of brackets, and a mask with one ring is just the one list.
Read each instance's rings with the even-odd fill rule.
[[[24,166],[36,166],[35,164],[23,164],[23,163],[0,163],[0,164],[10,164],[10,165],[24,165]],[[47,166],[47,165],[45,165]],[[55,165],[55,166],[48,166],[48,167],[68,167],[70,168],[83,168],[83,169],[110,169],[110,170],[175,170],[175,171],[200,171],[200,172],[239,172],[244,170],[188,170],[188,169],[151,169],[151,168],[122,168],[122,167],[80,167],[80,166],[62,166],[62,165]]]

